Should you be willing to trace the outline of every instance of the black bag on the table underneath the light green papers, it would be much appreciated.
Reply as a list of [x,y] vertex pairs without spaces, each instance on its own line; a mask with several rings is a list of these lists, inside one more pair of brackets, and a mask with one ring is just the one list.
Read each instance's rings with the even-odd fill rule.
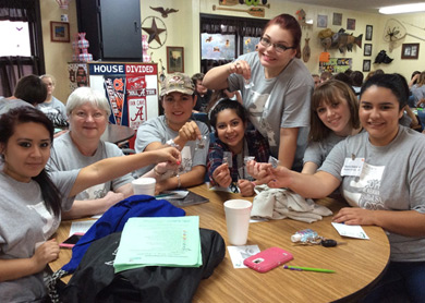
[[60,292],[62,302],[191,302],[201,279],[212,275],[226,254],[221,235],[199,229],[203,266],[149,266],[113,272],[121,239],[116,232],[92,243],[70,282]]

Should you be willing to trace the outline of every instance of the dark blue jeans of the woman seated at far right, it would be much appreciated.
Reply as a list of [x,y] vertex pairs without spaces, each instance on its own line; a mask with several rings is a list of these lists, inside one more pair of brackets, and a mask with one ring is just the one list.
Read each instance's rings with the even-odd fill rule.
[[362,302],[425,302],[425,262],[390,262]]

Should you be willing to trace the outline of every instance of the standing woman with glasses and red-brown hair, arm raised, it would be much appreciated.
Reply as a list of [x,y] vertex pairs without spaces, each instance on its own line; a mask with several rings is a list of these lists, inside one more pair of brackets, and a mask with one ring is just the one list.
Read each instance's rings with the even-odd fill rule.
[[281,14],[269,21],[256,52],[211,69],[203,84],[241,90],[254,126],[268,140],[281,166],[301,171],[307,144],[314,82],[301,58],[301,27]]

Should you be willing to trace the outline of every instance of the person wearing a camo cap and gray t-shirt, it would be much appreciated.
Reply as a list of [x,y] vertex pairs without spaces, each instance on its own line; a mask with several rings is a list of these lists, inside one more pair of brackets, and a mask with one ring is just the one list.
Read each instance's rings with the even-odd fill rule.
[[[182,153],[178,169],[167,170],[157,165],[156,193],[190,187],[204,182],[209,147],[208,126],[201,121],[191,120],[196,105],[195,87],[190,76],[182,73],[168,75],[161,83],[160,104],[163,116],[144,122],[137,130],[136,153],[154,150],[166,146],[177,146]],[[201,144],[199,144],[201,142]],[[136,174],[142,175],[153,167]]]

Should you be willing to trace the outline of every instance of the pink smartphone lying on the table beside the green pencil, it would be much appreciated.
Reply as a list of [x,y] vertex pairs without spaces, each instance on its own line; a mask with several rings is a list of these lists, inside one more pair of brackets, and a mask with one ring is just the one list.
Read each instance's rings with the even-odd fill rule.
[[293,259],[293,256],[290,252],[279,247],[270,247],[245,258],[243,264],[258,272],[267,272],[291,259]]

